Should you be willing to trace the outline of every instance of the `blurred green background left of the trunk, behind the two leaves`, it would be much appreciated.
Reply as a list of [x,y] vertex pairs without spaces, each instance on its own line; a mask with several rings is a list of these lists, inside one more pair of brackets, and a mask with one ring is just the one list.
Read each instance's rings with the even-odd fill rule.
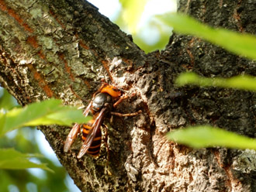
[[[16,99],[3,88],[0,89],[0,106],[6,111],[18,106]],[[21,153],[41,153],[43,158],[30,160],[35,163],[46,163],[54,173],[39,168],[0,169],[0,191],[80,191],[72,184],[73,181],[43,137],[43,133],[29,127],[16,129],[1,137],[0,149],[14,148]]]

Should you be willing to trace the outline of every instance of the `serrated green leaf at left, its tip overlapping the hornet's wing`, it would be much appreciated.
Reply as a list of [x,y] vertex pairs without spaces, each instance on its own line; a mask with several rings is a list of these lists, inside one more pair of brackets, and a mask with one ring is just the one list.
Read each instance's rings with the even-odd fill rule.
[[0,113],[0,136],[5,132],[23,126],[35,125],[67,125],[72,122],[87,122],[82,111],[71,106],[61,105],[61,100],[50,99],[27,105],[25,108],[13,108],[11,111]]

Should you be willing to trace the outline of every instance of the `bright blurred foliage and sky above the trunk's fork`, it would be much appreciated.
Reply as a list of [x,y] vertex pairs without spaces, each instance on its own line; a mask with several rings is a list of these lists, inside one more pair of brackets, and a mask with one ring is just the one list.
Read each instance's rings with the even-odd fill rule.
[[[133,42],[149,53],[167,45],[172,28],[156,18],[176,12],[176,0],[88,0],[120,29],[133,36]],[[109,7],[111,4],[111,8]]]

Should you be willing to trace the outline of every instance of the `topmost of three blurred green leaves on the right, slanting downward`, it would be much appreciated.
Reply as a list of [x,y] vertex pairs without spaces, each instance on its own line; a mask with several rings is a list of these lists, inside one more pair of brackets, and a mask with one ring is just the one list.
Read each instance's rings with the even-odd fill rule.
[[222,46],[230,52],[244,57],[256,59],[256,38],[250,34],[235,33],[227,29],[213,29],[189,16],[168,13],[158,15],[158,19],[171,26],[178,33],[183,33],[206,39],[211,43]]

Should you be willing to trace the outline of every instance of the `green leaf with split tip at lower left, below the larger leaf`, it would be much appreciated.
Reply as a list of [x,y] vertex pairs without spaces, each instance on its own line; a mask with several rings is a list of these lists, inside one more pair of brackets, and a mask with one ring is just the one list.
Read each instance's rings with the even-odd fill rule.
[[15,149],[0,149],[0,169],[23,170],[28,168],[40,168],[50,170],[46,164],[37,164],[29,161],[31,157],[39,157],[38,154],[19,153]]

